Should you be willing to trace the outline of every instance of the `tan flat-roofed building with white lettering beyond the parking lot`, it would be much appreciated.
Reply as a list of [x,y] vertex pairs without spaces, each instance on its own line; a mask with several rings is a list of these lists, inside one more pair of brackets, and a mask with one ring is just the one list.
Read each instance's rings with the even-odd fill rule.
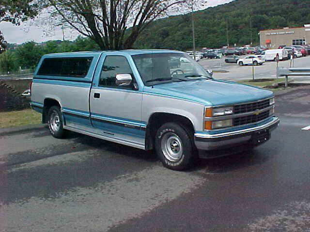
[[260,31],[260,44],[267,48],[280,45],[303,45],[310,43],[310,24],[301,28],[269,29]]

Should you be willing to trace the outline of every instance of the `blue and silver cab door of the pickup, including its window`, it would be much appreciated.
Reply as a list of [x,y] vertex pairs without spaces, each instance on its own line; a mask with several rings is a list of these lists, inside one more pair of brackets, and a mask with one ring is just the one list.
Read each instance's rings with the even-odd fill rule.
[[[142,92],[127,57],[114,54],[107,53],[98,63],[90,93],[91,121],[104,136],[144,146]],[[130,74],[131,85],[116,85],[116,74]]]

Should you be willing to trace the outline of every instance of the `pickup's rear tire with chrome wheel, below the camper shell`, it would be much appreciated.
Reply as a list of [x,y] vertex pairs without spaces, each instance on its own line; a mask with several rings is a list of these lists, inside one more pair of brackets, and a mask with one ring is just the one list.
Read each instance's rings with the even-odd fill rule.
[[62,112],[59,106],[50,107],[47,119],[48,129],[53,137],[57,139],[65,137],[67,131],[63,129]]

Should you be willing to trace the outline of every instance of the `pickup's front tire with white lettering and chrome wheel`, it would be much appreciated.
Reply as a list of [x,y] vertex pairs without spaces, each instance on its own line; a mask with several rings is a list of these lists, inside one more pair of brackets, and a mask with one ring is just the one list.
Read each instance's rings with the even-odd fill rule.
[[162,164],[176,171],[188,169],[197,159],[191,136],[174,122],[165,123],[158,129],[155,150]]

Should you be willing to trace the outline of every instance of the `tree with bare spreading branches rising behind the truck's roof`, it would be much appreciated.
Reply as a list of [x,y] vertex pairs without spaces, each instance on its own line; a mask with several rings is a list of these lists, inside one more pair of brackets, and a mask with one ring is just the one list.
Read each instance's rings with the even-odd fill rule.
[[[195,2],[205,2],[195,0]],[[191,0],[40,0],[62,22],[102,50],[132,48],[141,31],[168,11],[182,13]],[[196,4],[198,5],[198,4]],[[201,4],[203,6],[203,4]],[[59,25],[59,24],[58,24]],[[130,29],[129,29],[130,28]]]

